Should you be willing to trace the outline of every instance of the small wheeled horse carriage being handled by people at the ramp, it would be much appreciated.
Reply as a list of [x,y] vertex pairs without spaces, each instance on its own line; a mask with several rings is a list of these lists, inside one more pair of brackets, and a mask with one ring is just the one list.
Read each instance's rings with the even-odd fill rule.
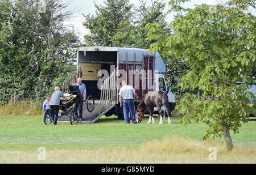
[[[79,91],[79,86],[69,86],[69,93],[66,95],[67,99],[61,97],[60,99],[60,109],[59,117],[66,115],[69,118],[71,125],[73,123],[77,124],[79,122],[79,116],[76,110],[72,110],[70,116],[68,114],[69,109],[73,107],[73,104],[77,103],[81,99],[81,93]],[[86,98],[86,108],[89,112],[92,112],[94,109],[94,98],[92,95]],[[47,109],[44,113],[44,123],[51,124],[53,122],[53,114],[51,109]]]

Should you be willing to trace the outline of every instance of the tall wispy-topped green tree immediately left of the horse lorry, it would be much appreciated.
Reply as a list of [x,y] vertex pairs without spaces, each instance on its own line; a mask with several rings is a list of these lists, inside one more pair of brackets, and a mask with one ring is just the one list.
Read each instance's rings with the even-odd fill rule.
[[35,57],[36,76],[45,79],[49,88],[53,79],[74,70],[75,49],[80,43],[75,31],[64,25],[72,15],[72,11],[67,10],[69,4],[60,0],[46,0],[45,9],[41,11],[39,2],[22,0],[16,6],[19,14],[26,17],[23,23],[34,24],[29,29],[34,34],[30,53]]

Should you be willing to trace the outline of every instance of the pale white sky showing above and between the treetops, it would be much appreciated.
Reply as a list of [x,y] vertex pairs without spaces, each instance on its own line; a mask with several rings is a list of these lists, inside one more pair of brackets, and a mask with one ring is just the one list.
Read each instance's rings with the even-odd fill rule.
[[[72,10],[75,10],[75,13],[73,14],[73,18],[70,22],[74,25],[74,29],[76,29],[77,33],[80,36],[80,40],[83,40],[83,36],[89,33],[89,30],[82,25],[84,22],[84,16],[85,15],[95,15],[96,8],[94,7],[94,1],[97,5],[104,5],[105,0],[73,0],[71,4],[69,5],[69,8]],[[164,12],[167,12],[170,8],[168,5],[168,2],[170,0],[160,0],[164,3],[166,3],[166,8],[164,9]],[[184,3],[183,7],[191,7],[193,8],[194,5],[201,5],[203,3],[207,5],[217,5],[218,3],[224,3],[226,0],[191,0],[191,2]],[[139,7],[140,2],[138,0],[130,0],[130,3],[133,3],[135,6]],[[151,4],[151,0],[147,0],[147,5],[149,6]],[[172,22],[174,20],[174,14],[168,14],[166,16],[166,21],[168,23]]]

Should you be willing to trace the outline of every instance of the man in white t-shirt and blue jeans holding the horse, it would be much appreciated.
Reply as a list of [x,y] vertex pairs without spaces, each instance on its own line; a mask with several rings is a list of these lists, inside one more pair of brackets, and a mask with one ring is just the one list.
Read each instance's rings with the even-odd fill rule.
[[123,80],[122,81],[122,88],[119,90],[119,101],[120,106],[123,106],[123,116],[125,117],[125,121],[127,124],[130,123],[129,119],[129,112],[131,115],[131,121],[136,124],[136,117],[135,117],[135,108],[133,102],[133,95],[136,99],[139,99],[135,89],[132,86],[127,85],[127,83]]

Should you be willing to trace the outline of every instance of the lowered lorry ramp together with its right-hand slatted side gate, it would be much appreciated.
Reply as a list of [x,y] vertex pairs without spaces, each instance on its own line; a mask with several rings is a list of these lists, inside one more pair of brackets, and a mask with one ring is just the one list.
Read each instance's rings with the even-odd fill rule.
[[[104,116],[109,110],[114,108],[117,104],[117,70],[114,70],[112,74],[101,85],[101,98],[100,100],[94,100],[93,112],[88,112],[86,104],[82,105],[82,121],[80,123],[94,123],[97,119]],[[67,110],[68,116],[70,116],[73,107]],[[79,114],[79,110],[77,110]],[[57,120],[57,122],[70,122],[69,117],[63,114]]]

